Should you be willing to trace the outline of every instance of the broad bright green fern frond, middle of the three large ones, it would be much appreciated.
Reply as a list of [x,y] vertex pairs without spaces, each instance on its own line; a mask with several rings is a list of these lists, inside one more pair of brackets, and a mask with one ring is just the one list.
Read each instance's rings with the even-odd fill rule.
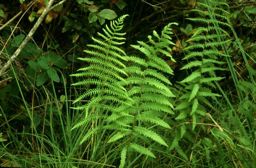
[[[170,81],[162,73],[173,74],[173,71],[159,56],[164,55],[175,61],[169,53],[169,46],[174,45],[170,41],[172,24],[176,23],[168,24],[160,36],[156,31],[153,32],[154,37],[148,36],[150,44],[138,41],[139,45],[131,45],[142,52],[145,59],[139,56],[125,57],[133,62],[125,69],[129,77],[123,82],[128,85],[128,96],[132,100],[117,108],[107,119],[117,130],[108,142],[123,140],[120,168],[128,164],[133,152],[155,158],[150,150],[155,144],[168,146],[161,134],[166,129],[170,130],[164,118],[174,114],[170,99],[175,96],[168,87]],[[161,131],[158,130],[159,126],[163,128]]]

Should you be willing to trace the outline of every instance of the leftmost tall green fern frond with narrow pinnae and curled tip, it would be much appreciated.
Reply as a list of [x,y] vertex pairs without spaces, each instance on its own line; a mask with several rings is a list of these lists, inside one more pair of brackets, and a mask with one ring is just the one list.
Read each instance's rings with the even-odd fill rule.
[[[122,42],[125,38],[120,36],[125,35],[125,33],[119,32],[123,28],[123,21],[127,16],[123,15],[117,20],[111,21],[110,27],[106,25],[106,29],[103,29],[105,34],[98,33],[102,38],[101,40],[92,38],[95,44],[87,46],[93,50],[84,50],[84,52],[92,57],[79,58],[90,63],[90,65],[78,70],[82,72],[71,75],[85,77],[82,81],[72,85],[90,85],[90,88],[73,103],[89,96],[91,96],[91,99],[87,104],[74,108],[84,111],[85,116],[72,129],[80,127],[91,120],[104,119],[109,111],[115,109],[115,104],[123,104],[128,99],[127,91],[120,83],[120,81],[125,82],[123,76],[127,76],[127,73],[123,70],[125,65],[122,63],[122,61],[127,61],[124,57],[126,54],[120,49],[120,45],[125,43]],[[89,112],[92,115],[88,116]],[[80,144],[86,141],[92,134],[95,134],[99,128],[96,127],[90,130],[83,137]]]

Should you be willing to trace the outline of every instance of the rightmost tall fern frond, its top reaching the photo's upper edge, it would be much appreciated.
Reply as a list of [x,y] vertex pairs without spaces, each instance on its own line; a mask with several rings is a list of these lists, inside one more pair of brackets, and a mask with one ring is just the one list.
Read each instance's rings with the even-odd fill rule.
[[[188,20],[200,22],[203,26],[196,29],[194,35],[187,40],[190,45],[183,49],[187,52],[183,60],[187,60],[188,63],[181,69],[189,70],[190,74],[180,82],[179,87],[184,89],[178,99],[180,103],[175,107],[175,110],[179,111],[175,119],[180,120],[181,123],[188,119],[192,119],[193,123],[200,123],[199,117],[211,112],[214,109],[211,102],[218,102],[217,97],[221,96],[212,92],[216,88],[216,83],[224,78],[216,74],[218,74],[217,71],[225,70],[223,68],[225,61],[222,60],[225,60],[228,55],[221,50],[223,45],[230,42],[230,40],[223,40],[229,37],[223,27],[229,27],[229,24],[225,23],[228,20],[225,14],[228,12],[222,9],[221,5],[226,4],[215,0],[197,3],[197,6],[206,8],[208,11],[192,9],[191,11],[198,12],[203,17],[188,18]],[[192,124],[191,131],[195,127],[196,124]],[[179,147],[178,141],[183,135],[188,134],[186,129],[185,124],[182,124],[180,130],[177,129],[178,133],[170,149]],[[196,142],[196,139],[191,140],[192,143]]]

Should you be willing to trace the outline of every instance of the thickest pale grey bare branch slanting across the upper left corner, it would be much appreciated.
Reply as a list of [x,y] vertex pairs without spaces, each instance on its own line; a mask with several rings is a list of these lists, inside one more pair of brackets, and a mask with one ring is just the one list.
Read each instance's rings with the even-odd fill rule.
[[20,52],[22,51],[22,49],[25,47],[25,45],[27,44],[27,42],[32,39],[32,36],[34,35],[35,31],[37,30],[37,28],[39,27],[39,25],[42,23],[45,15],[52,10],[54,7],[56,7],[57,5],[60,5],[62,3],[64,3],[66,0],[62,0],[59,3],[57,3],[56,5],[54,5],[53,7],[52,4],[54,2],[54,0],[49,0],[48,4],[46,5],[44,11],[42,12],[41,16],[38,18],[37,22],[35,23],[35,25],[33,26],[33,28],[30,30],[29,34],[27,35],[27,37],[22,41],[22,43],[20,44],[20,46],[18,47],[18,49],[14,52],[14,54],[11,56],[11,58],[7,61],[7,63],[4,64],[4,66],[0,69],[0,76],[3,75],[3,73],[5,72],[5,70],[11,65],[12,61],[14,61],[14,59],[20,54]]

